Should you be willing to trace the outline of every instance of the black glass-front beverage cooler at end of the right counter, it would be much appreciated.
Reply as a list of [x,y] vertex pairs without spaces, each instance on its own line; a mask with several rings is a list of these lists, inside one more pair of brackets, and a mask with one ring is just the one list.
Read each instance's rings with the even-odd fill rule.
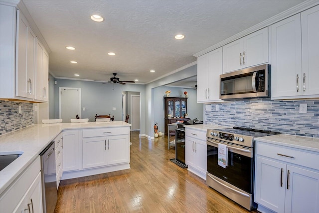
[[185,128],[183,124],[177,124],[175,129],[175,159],[171,162],[181,168],[187,168],[185,164]]

